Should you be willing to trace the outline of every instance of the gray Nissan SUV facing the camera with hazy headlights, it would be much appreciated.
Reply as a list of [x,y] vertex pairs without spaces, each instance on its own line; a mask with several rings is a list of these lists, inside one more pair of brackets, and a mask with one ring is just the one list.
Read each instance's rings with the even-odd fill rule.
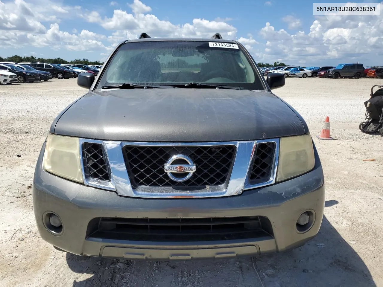
[[116,46],[52,122],[33,206],[56,249],[126,259],[228,258],[304,245],[324,176],[308,126],[249,52],[219,34]]

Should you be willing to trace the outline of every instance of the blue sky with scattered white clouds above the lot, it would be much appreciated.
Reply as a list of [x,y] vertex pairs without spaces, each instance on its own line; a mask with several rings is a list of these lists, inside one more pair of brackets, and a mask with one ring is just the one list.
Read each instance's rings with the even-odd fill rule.
[[313,2],[303,0],[0,0],[2,57],[105,60],[118,42],[142,32],[218,32],[246,45],[257,62],[383,65],[383,13],[313,16]]

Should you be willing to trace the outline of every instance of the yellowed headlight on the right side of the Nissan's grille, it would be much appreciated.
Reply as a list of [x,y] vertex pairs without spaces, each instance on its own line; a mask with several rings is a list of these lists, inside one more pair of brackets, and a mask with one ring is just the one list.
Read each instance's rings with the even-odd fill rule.
[[314,147],[310,134],[280,139],[277,182],[306,173],[314,165]]

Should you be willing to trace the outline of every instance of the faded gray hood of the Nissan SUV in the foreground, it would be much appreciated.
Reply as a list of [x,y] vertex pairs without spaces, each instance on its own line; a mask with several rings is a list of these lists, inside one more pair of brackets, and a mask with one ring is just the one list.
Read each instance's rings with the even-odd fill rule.
[[103,140],[209,142],[305,133],[285,102],[270,92],[249,90],[89,92],[57,118],[51,127],[55,134]]

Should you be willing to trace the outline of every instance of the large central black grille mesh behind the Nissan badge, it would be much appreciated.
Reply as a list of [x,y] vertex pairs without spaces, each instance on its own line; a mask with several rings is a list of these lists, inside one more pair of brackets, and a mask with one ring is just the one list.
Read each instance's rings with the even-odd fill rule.
[[[129,178],[137,186],[200,187],[224,184],[232,168],[236,147],[220,145],[208,147],[123,147]],[[173,155],[187,155],[196,165],[190,179],[176,182],[164,171],[164,165]],[[177,164],[174,162],[173,164]],[[178,173],[180,177],[186,173]]]

